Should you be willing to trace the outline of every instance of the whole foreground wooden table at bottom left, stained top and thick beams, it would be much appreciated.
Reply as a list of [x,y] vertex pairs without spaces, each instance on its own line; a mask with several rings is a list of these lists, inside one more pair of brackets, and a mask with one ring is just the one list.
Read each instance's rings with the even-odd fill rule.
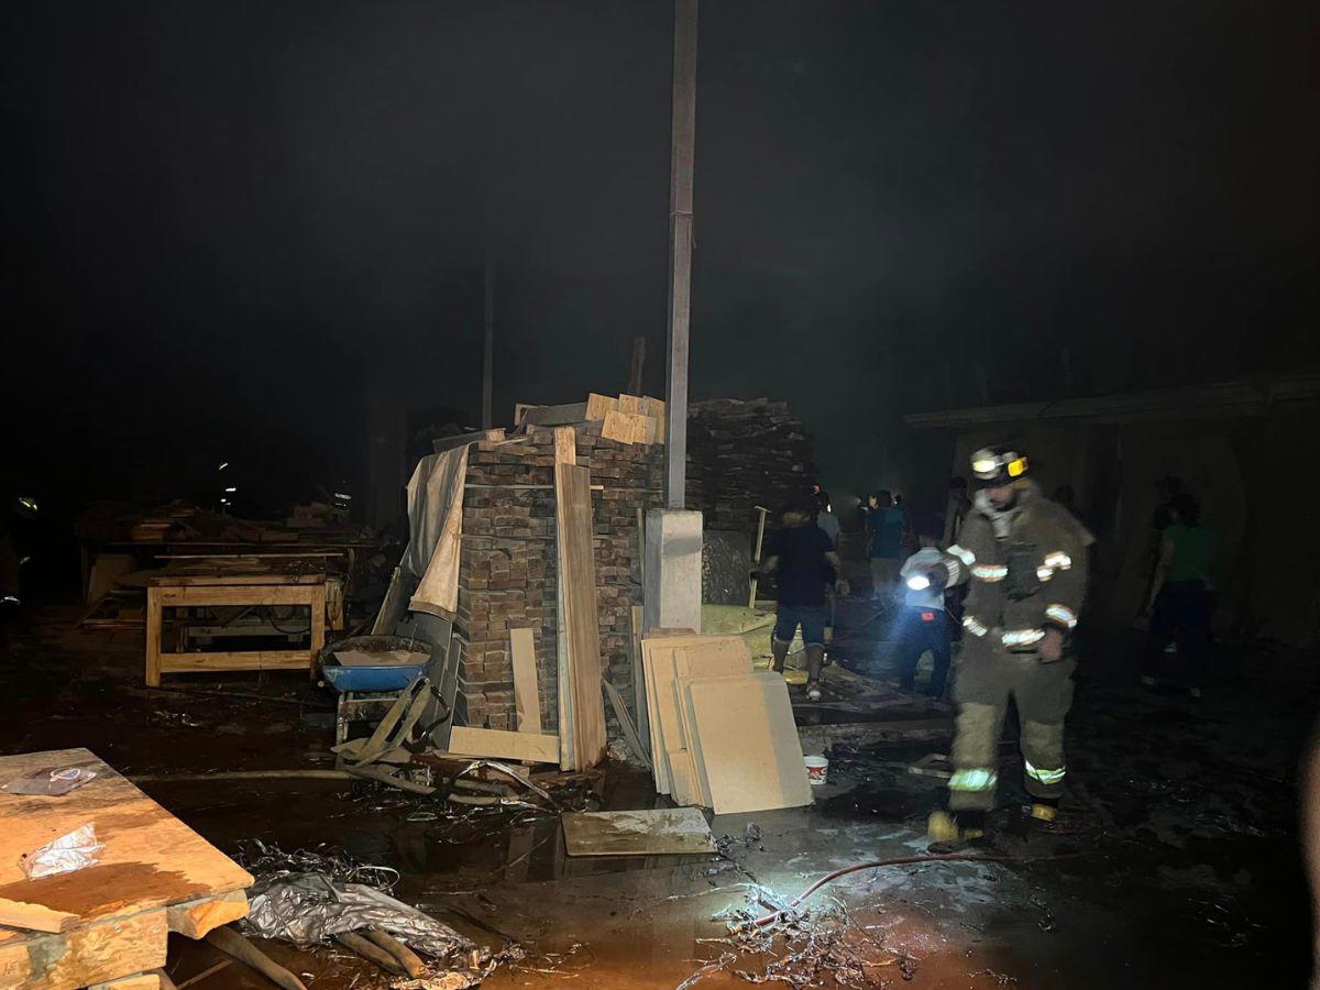
[[[0,784],[46,767],[83,767],[96,779],[62,797],[0,791],[0,898],[75,917],[55,935],[0,927],[0,986],[152,990],[169,932],[201,939],[247,916],[252,878],[87,750],[3,756]],[[20,855],[88,822],[106,846],[100,862],[24,876]]]

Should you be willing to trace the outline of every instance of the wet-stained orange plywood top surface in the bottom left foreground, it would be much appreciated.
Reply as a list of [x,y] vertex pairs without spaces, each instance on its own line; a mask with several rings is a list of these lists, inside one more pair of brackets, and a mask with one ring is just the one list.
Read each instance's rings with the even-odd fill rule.
[[[227,855],[87,750],[0,758],[0,781],[45,767],[82,767],[96,779],[59,799],[0,795],[0,898],[65,911],[87,923],[252,884]],[[24,876],[18,866],[24,853],[88,822],[106,846],[96,866],[37,880]]]

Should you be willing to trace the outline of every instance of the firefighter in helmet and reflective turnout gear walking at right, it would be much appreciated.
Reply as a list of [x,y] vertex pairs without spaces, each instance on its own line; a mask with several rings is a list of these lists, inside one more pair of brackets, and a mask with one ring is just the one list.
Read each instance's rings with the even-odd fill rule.
[[1055,820],[1064,789],[1064,718],[1073,696],[1069,639],[1086,593],[1090,535],[1041,495],[1027,477],[1027,458],[989,447],[973,454],[972,470],[979,491],[958,543],[932,576],[969,589],[953,684],[958,714],[949,807],[931,816],[933,842],[985,834],[1010,697],[1022,722],[1031,817]]

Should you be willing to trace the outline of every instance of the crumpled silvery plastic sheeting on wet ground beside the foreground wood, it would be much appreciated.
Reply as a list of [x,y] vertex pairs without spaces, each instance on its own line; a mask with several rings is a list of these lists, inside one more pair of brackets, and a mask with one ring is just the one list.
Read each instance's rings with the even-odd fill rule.
[[360,883],[341,883],[321,873],[285,874],[248,891],[247,928],[263,939],[297,945],[379,928],[441,961],[446,987],[479,986],[508,954],[491,954],[449,925]]

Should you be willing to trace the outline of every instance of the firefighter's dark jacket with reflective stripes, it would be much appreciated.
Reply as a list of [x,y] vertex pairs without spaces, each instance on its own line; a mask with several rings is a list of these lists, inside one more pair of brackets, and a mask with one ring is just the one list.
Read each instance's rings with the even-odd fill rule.
[[[1014,483],[1018,498],[997,510],[978,494],[948,549],[949,585],[968,585],[964,648],[1034,653],[1045,630],[1065,635],[1077,626],[1086,595],[1090,533],[1030,479]],[[979,645],[978,645],[979,644]]]

